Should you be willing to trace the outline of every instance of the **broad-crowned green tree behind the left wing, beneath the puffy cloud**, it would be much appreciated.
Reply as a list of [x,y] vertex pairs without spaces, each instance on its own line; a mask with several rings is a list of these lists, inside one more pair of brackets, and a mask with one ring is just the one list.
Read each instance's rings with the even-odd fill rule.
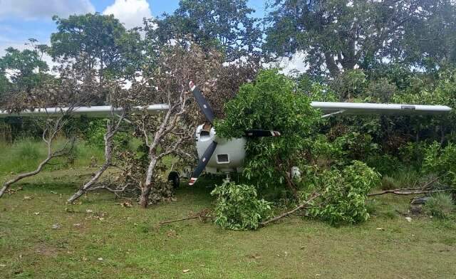
[[[136,30],[127,31],[113,15],[86,14],[69,16],[68,19],[53,17],[57,32],[51,34],[49,53],[54,60],[84,58],[85,66],[92,69],[103,91],[105,80],[133,79],[141,68],[141,40]],[[105,99],[103,92],[101,100]]]

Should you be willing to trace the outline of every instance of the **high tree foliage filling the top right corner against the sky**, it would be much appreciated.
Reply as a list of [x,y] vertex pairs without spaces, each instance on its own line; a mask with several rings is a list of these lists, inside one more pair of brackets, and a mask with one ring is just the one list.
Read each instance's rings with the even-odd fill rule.
[[383,58],[410,65],[429,53],[453,58],[454,9],[450,0],[271,1],[264,50],[277,56],[303,51],[310,73],[328,70],[333,78],[341,72],[339,65],[367,69]]

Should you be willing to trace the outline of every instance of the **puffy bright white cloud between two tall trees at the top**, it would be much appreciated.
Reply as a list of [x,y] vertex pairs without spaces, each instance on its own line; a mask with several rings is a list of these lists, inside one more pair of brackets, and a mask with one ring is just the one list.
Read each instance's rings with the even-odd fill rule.
[[103,14],[113,14],[126,28],[142,26],[142,19],[150,19],[149,3],[146,0],[115,0]]

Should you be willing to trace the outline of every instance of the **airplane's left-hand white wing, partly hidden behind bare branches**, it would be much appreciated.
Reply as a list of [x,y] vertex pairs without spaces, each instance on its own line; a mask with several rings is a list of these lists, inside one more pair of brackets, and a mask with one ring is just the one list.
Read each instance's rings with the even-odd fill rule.
[[[48,107],[46,109],[38,108],[36,110],[24,110],[20,113],[9,113],[6,110],[0,110],[0,118],[10,117],[10,116],[49,116],[49,115],[60,115],[68,111],[68,107]],[[142,110],[144,107],[135,107],[135,109]],[[156,104],[156,105],[149,105],[146,107],[146,110],[150,113],[156,113],[163,110],[167,110],[168,105],[165,104]],[[114,112],[122,112],[123,109],[121,107],[115,107]],[[109,117],[111,114],[111,106],[110,105],[100,105],[100,106],[93,106],[93,107],[75,107],[73,115],[87,115],[88,117]]]

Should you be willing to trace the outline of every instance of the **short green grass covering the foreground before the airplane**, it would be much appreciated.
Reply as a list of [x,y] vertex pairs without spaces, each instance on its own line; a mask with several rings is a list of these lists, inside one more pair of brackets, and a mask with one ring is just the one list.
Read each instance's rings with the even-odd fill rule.
[[[0,199],[3,278],[456,276],[455,221],[412,216],[409,223],[398,213],[407,212],[409,197],[370,201],[371,219],[358,226],[293,216],[259,231],[224,231],[199,220],[158,226],[212,207],[212,181],[182,185],[177,201],[146,210],[122,207],[104,192],[66,205],[87,174],[86,168],[43,172]],[[53,229],[56,223],[61,228]]]

